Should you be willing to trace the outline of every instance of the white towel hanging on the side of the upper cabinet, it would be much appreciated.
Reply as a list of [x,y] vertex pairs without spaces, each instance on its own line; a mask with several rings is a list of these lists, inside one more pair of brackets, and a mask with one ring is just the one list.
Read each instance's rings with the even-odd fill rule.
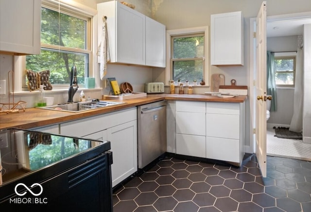
[[110,61],[108,34],[107,34],[107,24],[106,17],[103,17],[103,27],[101,43],[97,50],[97,55],[100,57],[100,75],[101,79],[104,80],[104,76],[107,73],[107,62]]

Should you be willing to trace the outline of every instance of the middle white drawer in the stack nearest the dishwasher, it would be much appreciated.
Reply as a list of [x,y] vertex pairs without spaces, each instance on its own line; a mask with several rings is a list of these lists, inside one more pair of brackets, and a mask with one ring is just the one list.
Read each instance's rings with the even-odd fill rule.
[[176,112],[176,133],[205,136],[205,113]]

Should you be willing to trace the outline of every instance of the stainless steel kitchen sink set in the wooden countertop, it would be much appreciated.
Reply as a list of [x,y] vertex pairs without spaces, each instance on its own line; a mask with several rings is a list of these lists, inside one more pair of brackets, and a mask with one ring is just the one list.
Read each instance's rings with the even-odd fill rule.
[[107,106],[116,106],[125,104],[124,102],[112,102],[112,101],[89,101],[89,102],[68,102],[59,105],[52,105],[52,106],[43,106],[37,107],[42,109],[49,109],[49,110],[58,110],[58,111],[65,111],[65,112],[83,112],[86,110],[97,109],[101,107]]

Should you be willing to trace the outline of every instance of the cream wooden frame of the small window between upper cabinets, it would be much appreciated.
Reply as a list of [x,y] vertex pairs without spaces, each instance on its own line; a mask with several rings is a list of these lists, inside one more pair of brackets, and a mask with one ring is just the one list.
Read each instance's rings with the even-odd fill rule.
[[[182,35],[195,35],[195,34],[204,34],[204,57],[203,57],[203,79],[205,81],[205,86],[209,86],[209,28],[208,26],[203,27],[193,27],[193,28],[184,28],[176,30],[167,30],[166,31],[166,68],[165,68],[165,85],[169,85],[169,81],[173,77],[173,60],[172,60],[172,37],[173,36],[182,36]],[[197,59],[197,58],[194,58]],[[193,82],[190,82],[190,85]],[[177,85],[177,82],[175,82]],[[198,84],[201,86],[200,84]]]

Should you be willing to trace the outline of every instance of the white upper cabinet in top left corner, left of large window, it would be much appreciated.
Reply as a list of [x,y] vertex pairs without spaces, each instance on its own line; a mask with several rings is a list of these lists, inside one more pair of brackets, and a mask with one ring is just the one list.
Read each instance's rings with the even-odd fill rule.
[[0,0],[0,53],[40,54],[41,0]]

